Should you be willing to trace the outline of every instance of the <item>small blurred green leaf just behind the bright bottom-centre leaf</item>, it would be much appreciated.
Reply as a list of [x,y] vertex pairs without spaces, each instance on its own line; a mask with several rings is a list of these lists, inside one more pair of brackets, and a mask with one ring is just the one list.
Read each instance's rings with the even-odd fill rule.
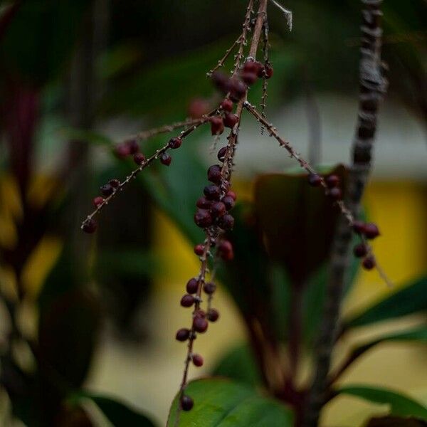
[[240,344],[229,350],[212,370],[214,376],[225,376],[243,384],[261,384],[260,372],[248,344]]

